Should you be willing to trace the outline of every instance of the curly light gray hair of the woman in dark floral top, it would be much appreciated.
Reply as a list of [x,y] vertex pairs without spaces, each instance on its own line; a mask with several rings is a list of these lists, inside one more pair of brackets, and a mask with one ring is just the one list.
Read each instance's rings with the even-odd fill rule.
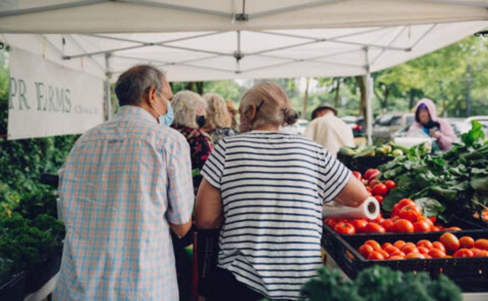
[[195,121],[196,112],[205,112],[207,102],[197,93],[186,90],[179,91],[173,95],[171,106],[174,111],[173,124],[198,128],[198,124]]

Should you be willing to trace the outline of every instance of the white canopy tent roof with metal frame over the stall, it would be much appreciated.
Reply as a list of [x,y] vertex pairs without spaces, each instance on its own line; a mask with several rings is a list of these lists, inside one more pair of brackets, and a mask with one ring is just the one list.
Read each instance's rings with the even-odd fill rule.
[[0,2],[5,43],[112,80],[147,62],[170,81],[369,77],[485,27],[488,0]]

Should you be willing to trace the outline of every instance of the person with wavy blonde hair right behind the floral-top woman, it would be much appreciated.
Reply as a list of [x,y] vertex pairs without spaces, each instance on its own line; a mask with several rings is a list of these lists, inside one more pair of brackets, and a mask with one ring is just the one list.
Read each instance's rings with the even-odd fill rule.
[[232,119],[224,98],[215,93],[207,93],[203,95],[203,99],[207,101],[208,107],[205,111],[205,126],[202,129],[210,135],[214,144],[224,137],[236,135],[237,132],[231,127]]

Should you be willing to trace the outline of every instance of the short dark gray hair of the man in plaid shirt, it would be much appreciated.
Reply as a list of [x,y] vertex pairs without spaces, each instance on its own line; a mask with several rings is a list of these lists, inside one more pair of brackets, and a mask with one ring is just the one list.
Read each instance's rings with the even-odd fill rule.
[[139,105],[142,95],[151,86],[158,92],[163,87],[164,73],[151,65],[136,65],[121,74],[115,83],[115,94],[120,106]]

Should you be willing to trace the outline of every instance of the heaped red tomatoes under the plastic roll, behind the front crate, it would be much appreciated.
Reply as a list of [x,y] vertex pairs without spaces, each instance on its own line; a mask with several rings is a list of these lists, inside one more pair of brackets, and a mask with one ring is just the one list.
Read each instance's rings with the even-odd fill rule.
[[355,233],[385,233],[385,232],[430,232],[430,231],[459,231],[460,227],[444,228],[435,224],[436,217],[425,217],[409,198],[401,199],[393,206],[390,218],[383,218],[381,214],[374,220],[344,219],[329,217],[324,223],[340,234]]

